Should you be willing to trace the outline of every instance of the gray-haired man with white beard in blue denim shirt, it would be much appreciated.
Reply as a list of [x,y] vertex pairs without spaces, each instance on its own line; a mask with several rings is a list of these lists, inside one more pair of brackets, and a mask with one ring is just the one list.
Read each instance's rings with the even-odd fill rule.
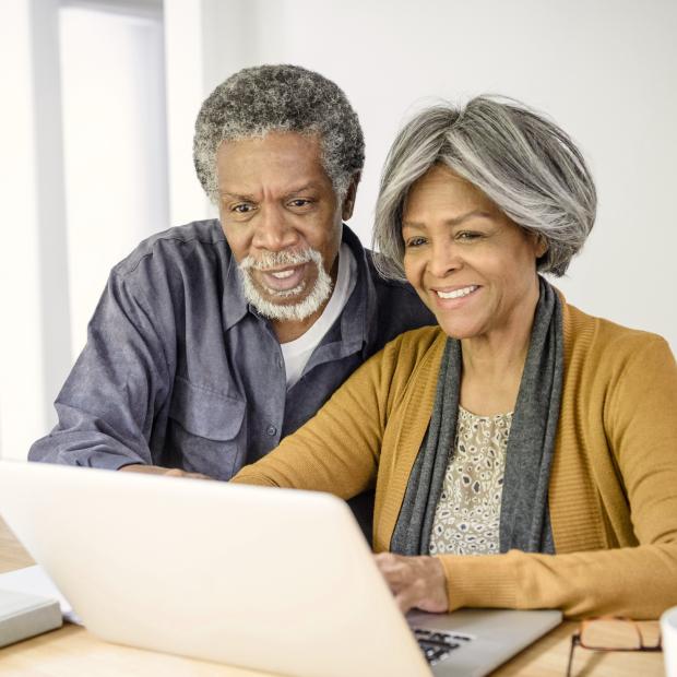
[[364,140],[333,82],[236,73],[200,110],[194,163],[221,223],[161,233],[114,268],[31,460],[228,479],[433,322],[343,225]]

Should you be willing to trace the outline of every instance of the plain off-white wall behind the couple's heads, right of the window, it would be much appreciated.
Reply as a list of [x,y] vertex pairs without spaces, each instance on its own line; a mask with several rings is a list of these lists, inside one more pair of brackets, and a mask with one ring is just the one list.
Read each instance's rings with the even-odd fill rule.
[[[556,284],[677,349],[677,2],[258,0],[246,19],[235,2],[230,21],[227,4],[206,40],[246,39],[251,63],[317,70],[357,109],[367,164],[352,225],[365,242],[387,150],[415,109],[491,92],[549,114],[579,142],[599,193],[586,248]],[[235,68],[212,63],[222,78]]]

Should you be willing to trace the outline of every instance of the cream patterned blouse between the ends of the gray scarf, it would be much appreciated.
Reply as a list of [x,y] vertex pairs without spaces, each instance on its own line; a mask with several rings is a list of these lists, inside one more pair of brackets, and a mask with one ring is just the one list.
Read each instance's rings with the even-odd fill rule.
[[455,452],[444,475],[430,555],[499,551],[506,448],[512,412],[476,416],[459,406]]

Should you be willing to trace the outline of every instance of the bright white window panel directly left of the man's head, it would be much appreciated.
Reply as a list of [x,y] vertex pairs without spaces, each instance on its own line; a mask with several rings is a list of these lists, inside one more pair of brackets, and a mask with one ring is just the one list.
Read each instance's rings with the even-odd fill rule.
[[159,15],[132,8],[64,7],[59,19],[74,358],[110,268],[169,227],[164,38]]

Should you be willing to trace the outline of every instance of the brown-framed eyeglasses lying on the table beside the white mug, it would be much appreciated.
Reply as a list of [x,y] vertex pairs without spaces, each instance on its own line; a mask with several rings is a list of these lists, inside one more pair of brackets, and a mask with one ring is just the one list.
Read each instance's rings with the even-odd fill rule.
[[646,642],[640,626],[629,618],[602,617],[584,620],[580,630],[571,636],[567,677],[571,677],[577,646],[593,651],[661,651],[661,637]]

